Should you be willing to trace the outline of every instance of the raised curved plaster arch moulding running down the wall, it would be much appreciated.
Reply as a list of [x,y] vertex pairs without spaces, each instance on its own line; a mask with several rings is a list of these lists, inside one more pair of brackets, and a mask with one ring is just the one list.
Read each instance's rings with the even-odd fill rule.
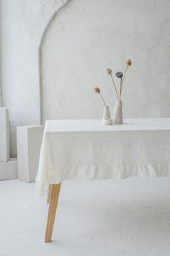
[[39,122],[40,124],[42,124],[42,88],[41,88],[41,83],[42,83],[42,73],[41,73],[41,47],[42,47],[42,42],[45,38],[45,35],[48,31],[48,28],[50,27],[51,23],[53,22],[53,20],[55,19],[55,16],[57,14],[59,14],[65,7],[67,7],[67,5],[70,3],[71,0],[66,0],[61,7],[59,7],[58,9],[55,10],[55,12],[53,12],[53,14],[50,17],[50,20],[48,20],[47,25],[45,26],[45,30],[42,33],[42,37],[40,39],[40,44],[38,47],[38,72],[39,72],[39,109],[40,109],[40,118],[39,118]]

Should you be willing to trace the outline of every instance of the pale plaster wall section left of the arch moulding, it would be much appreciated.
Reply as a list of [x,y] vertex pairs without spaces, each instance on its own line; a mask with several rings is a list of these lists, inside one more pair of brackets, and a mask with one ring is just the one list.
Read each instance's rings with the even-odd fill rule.
[[9,108],[11,155],[17,155],[16,127],[39,124],[38,46],[62,0],[1,0],[2,106]]

